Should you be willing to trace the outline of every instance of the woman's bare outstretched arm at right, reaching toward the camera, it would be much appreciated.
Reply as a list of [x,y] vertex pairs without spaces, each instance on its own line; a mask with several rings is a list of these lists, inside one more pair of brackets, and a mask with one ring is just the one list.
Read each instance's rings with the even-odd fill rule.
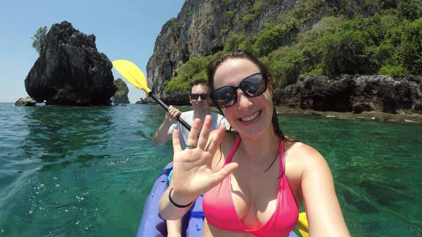
[[333,175],[326,160],[310,146],[302,145],[299,150],[304,167],[301,189],[309,236],[349,237],[350,233],[335,194]]

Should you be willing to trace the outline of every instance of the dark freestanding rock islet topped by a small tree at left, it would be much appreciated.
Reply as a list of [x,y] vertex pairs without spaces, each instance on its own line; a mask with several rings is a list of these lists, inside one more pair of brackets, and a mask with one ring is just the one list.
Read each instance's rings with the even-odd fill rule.
[[108,57],[96,49],[94,34],[63,21],[46,34],[39,58],[25,78],[25,89],[46,105],[110,105],[117,91]]

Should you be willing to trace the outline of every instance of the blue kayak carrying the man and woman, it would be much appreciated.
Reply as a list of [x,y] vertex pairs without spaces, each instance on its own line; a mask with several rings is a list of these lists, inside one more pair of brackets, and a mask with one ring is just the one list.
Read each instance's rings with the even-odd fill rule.
[[[141,224],[139,224],[136,237],[167,237],[167,226],[165,220],[160,217],[158,202],[168,186],[168,175],[172,171],[173,162],[170,162],[155,180],[151,193],[146,199],[143,207]],[[202,209],[203,196],[199,196],[195,203],[183,217],[182,237],[200,237],[203,236],[204,212]],[[302,213],[301,213],[302,214]],[[306,218],[306,217],[305,217]],[[302,233],[302,232],[301,232]],[[289,237],[298,237],[295,232],[290,232]]]

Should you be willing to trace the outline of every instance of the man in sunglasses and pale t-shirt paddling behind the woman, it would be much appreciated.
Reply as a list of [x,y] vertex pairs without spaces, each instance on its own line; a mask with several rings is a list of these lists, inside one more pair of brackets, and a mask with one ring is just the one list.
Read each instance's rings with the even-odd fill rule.
[[[160,146],[170,139],[174,129],[179,130],[180,146],[184,150],[186,148],[186,140],[188,139],[189,131],[182,124],[177,122],[177,116],[186,121],[188,124],[192,124],[193,120],[199,118],[201,120],[201,126],[206,115],[212,116],[212,130],[218,129],[221,125],[226,126],[226,129],[230,129],[230,124],[226,118],[222,115],[210,111],[211,99],[206,79],[194,79],[191,82],[191,95],[189,96],[189,102],[192,105],[193,110],[180,113],[177,108],[170,105],[169,112],[166,113],[164,120],[155,131],[153,136],[153,146]],[[181,219],[177,221],[167,220],[167,237],[180,237],[181,236]]]

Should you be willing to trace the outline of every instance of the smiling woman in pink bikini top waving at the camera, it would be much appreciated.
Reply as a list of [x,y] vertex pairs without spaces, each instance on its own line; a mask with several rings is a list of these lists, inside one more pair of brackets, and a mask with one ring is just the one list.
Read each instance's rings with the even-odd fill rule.
[[326,160],[283,135],[269,70],[245,52],[219,56],[207,69],[212,101],[236,132],[192,124],[186,150],[173,134],[172,185],[160,199],[178,219],[201,193],[203,236],[288,236],[305,202],[309,236],[350,236]]

